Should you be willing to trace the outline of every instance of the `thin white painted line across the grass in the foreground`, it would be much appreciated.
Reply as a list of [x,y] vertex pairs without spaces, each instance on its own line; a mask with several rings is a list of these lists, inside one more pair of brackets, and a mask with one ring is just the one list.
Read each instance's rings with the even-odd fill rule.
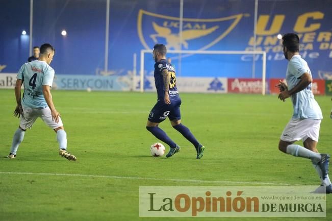
[[144,177],[121,177],[107,175],[85,175],[85,174],[52,174],[52,173],[30,173],[30,172],[3,172],[0,174],[7,175],[34,175],[34,176],[59,176],[59,177],[86,177],[86,178],[106,178],[106,179],[126,179],[126,180],[157,180],[157,181],[175,181],[188,183],[215,183],[215,184],[255,184],[255,185],[274,185],[274,186],[302,186],[288,183],[272,182],[249,182],[249,181],[226,181],[226,180],[186,180],[186,179],[165,179],[165,178],[144,178]]

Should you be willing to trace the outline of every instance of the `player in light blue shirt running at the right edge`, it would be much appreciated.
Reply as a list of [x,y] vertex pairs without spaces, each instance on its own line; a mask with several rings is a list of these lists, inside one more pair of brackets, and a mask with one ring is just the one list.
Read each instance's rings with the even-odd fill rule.
[[[288,33],[283,36],[283,52],[289,61],[287,84],[280,81],[277,85],[280,90],[278,98],[285,101],[291,97],[294,112],[280,137],[279,150],[295,157],[310,159],[321,179],[321,186],[326,187],[326,193],[331,193],[332,185],[328,177],[330,156],[320,154],[316,148],[322,111],[311,90],[313,80],[308,63],[299,55],[299,37],[296,34]],[[303,146],[293,144],[300,139]]]

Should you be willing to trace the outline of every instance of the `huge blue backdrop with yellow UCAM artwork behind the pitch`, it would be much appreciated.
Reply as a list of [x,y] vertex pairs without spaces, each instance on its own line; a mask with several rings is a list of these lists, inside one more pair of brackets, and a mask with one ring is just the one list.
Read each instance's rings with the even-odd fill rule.
[[[86,81],[96,76],[127,76],[133,71],[133,54],[139,61],[140,50],[156,42],[165,43],[169,50],[244,51],[253,46],[254,0],[184,0],[182,42],[178,0],[111,0],[108,70],[104,71],[106,0],[34,0],[33,11],[33,45],[49,42],[55,46],[52,66],[60,76],[60,88],[63,83],[74,85],[78,75],[86,76]],[[314,78],[331,79],[331,11],[331,0],[259,0],[256,44],[258,50],[267,52],[267,78],[285,76],[287,61],[277,34],[295,32]],[[0,2],[1,72],[17,72],[30,56],[29,18],[30,1]],[[22,30],[27,35],[21,35]],[[170,57],[178,66],[178,55]],[[254,75],[260,78],[261,56],[254,59]],[[145,60],[149,76],[154,61],[150,55]],[[251,55],[183,55],[178,75],[251,78],[252,60]],[[117,88],[118,78],[112,81]]]

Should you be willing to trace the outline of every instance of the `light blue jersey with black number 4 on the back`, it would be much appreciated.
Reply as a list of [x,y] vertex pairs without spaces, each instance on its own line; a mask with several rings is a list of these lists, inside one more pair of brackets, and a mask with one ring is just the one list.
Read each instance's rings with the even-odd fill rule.
[[17,79],[23,80],[24,83],[22,106],[31,108],[47,107],[42,86],[52,87],[54,79],[54,69],[52,67],[39,60],[25,63],[19,69]]

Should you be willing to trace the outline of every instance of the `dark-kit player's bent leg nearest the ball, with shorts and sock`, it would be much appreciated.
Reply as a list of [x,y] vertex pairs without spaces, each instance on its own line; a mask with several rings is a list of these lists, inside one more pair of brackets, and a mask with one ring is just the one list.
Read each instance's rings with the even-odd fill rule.
[[[160,122],[164,121],[169,114],[168,105],[158,102],[151,110],[148,120],[146,123],[146,130],[148,130],[155,137],[161,141],[167,143],[170,150],[180,151],[180,146],[178,146],[161,128],[159,128]],[[174,152],[173,154],[175,154]]]

